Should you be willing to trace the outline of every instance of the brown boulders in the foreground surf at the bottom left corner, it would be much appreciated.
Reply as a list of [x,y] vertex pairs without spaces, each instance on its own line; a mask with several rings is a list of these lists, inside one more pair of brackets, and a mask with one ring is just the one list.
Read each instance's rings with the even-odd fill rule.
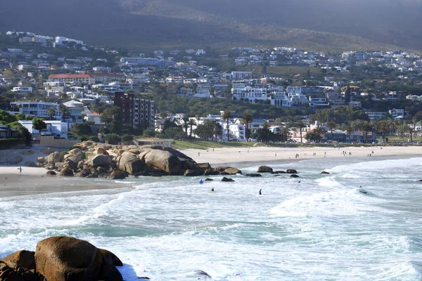
[[17,251],[0,260],[0,281],[122,281],[115,254],[72,237],[49,237],[35,251]]

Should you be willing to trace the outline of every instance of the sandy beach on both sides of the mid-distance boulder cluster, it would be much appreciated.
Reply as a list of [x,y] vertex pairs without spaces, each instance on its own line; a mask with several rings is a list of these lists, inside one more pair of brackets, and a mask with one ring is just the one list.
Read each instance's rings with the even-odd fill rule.
[[[25,166],[26,161],[37,162],[40,154],[39,148],[33,155],[22,155],[25,150],[3,150],[0,152],[0,162],[5,163],[6,158],[13,155],[22,155],[20,164],[0,166],[0,197],[20,195],[36,195],[49,192],[70,192],[77,190],[98,190],[118,188],[114,181],[87,180],[85,178],[64,178],[59,176],[46,176],[44,168],[30,168]],[[422,155],[422,146],[409,147],[350,147],[350,148],[215,148],[209,150],[181,150],[192,157],[196,162],[209,162],[212,166],[238,166],[248,164],[272,164],[280,162],[295,162],[303,159],[338,158],[338,157],[392,157],[392,156],[418,156]],[[343,151],[346,153],[343,154]],[[298,157],[295,157],[298,155]],[[18,168],[22,166],[22,173]]]

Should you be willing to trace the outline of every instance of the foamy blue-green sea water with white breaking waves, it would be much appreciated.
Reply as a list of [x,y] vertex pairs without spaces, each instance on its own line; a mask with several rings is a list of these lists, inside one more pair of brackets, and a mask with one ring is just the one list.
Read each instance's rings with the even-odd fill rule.
[[0,199],[0,257],[68,235],[117,254],[124,280],[198,280],[195,270],[212,280],[421,280],[422,158],[271,166],[300,178],[129,178],[113,190]]

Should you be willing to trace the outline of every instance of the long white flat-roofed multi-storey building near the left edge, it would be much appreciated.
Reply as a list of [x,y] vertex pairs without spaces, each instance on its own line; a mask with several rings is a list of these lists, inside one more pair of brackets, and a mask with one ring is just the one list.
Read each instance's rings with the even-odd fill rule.
[[49,119],[50,115],[47,113],[49,107],[53,107],[55,113],[53,115],[54,119],[60,119],[60,111],[58,103],[44,103],[40,101],[24,101],[24,102],[12,102],[11,103],[12,111],[23,113],[27,116],[33,117],[42,117]]

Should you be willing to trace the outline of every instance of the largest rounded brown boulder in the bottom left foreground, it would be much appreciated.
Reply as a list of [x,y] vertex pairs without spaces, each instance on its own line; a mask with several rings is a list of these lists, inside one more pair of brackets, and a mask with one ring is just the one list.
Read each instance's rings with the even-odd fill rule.
[[116,258],[84,240],[50,237],[37,243],[35,266],[49,281],[121,281]]

